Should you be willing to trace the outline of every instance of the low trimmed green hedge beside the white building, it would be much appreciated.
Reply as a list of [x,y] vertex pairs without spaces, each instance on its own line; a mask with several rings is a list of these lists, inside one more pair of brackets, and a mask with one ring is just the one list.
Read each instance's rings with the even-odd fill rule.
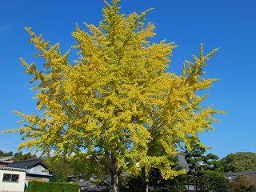
[[78,192],[78,183],[31,181],[27,192]]

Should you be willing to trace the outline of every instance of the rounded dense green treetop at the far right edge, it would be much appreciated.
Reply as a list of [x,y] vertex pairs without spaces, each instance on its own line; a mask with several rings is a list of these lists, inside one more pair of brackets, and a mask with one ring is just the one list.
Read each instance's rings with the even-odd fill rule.
[[220,162],[225,172],[256,170],[256,154],[252,152],[228,154]]

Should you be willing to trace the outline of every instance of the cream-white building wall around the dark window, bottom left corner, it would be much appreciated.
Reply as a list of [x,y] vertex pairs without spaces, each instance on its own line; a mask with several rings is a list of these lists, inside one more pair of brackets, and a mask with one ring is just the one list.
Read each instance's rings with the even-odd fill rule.
[[[18,182],[3,182],[3,174],[18,174]],[[0,192],[24,192],[26,172],[0,170]]]

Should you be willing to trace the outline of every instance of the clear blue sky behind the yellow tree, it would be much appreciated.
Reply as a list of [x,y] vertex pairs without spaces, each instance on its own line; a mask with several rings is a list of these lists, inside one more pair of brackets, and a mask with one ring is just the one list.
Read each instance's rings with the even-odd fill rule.
[[[202,142],[212,146],[210,152],[224,157],[237,151],[254,151],[256,147],[256,2],[254,0],[123,0],[122,12],[141,12],[150,7],[148,21],[158,32],[156,42],[163,38],[176,42],[170,70],[180,70],[185,59],[198,53],[199,43],[205,50],[220,47],[209,62],[206,76],[219,78],[209,91],[206,104],[227,114],[214,131],[201,134]],[[34,47],[24,26],[31,26],[50,42],[61,42],[62,50],[74,45],[70,33],[75,23],[97,24],[102,19],[102,0],[74,1],[0,1],[0,130],[18,127],[19,110],[30,114],[31,100],[28,77],[18,58],[36,61]],[[16,150],[18,134],[0,134],[0,150]]]

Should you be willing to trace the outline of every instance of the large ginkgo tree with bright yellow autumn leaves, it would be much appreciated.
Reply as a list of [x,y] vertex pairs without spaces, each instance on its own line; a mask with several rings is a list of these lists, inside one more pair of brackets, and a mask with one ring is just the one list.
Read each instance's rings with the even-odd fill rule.
[[[204,78],[203,67],[215,54],[200,46],[194,62],[186,61],[181,74],[168,72],[174,42],[150,42],[154,24],[142,14],[121,14],[120,0],[105,2],[98,26],[85,23],[72,34],[78,58],[70,62],[60,44],[50,45],[42,35],[26,28],[43,65],[28,64],[26,74],[37,102],[38,114],[22,114],[19,146],[43,153],[67,154],[108,170],[111,191],[119,191],[122,172],[148,174],[157,168],[163,178],[182,173],[174,170],[173,157],[190,138],[211,130],[213,115],[203,107],[206,95],[199,90],[216,81]],[[171,70],[171,68],[170,68]],[[205,91],[203,91],[205,92]]]

